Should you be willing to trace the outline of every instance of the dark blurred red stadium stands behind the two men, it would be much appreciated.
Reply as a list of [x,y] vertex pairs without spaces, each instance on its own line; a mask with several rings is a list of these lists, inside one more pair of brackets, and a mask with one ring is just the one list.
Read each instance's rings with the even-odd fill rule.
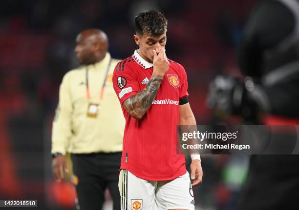
[[[41,210],[73,210],[74,189],[51,176],[51,124],[64,74],[78,64],[76,35],[100,28],[113,57],[133,53],[134,16],[145,9],[169,20],[167,56],[185,66],[198,124],[214,121],[206,106],[218,73],[238,75],[236,49],[257,0],[1,0],[0,199],[38,199]],[[234,209],[247,157],[203,157],[196,208]],[[67,177],[69,179],[69,177]],[[106,210],[109,210],[107,195]]]

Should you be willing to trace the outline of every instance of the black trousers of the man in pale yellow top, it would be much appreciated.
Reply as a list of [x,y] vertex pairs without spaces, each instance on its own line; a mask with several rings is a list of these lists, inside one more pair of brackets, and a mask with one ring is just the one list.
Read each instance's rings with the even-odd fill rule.
[[118,190],[122,153],[71,154],[80,210],[102,210],[105,190],[110,191],[113,210],[120,210]]

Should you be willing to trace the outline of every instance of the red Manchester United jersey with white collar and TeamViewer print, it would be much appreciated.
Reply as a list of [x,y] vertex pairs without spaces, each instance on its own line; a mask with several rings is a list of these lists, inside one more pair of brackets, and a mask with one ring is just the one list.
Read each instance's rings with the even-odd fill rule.
[[179,100],[189,95],[187,75],[182,65],[169,62],[169,71],[140,120],[128,114],[123,102],[145,88],[153,64],[135,50],[116,65],[113,73],[113,88],[126,118],[121,169],[145,180],[172,180],[186,173],[185,156],[176,153],[176,126]]

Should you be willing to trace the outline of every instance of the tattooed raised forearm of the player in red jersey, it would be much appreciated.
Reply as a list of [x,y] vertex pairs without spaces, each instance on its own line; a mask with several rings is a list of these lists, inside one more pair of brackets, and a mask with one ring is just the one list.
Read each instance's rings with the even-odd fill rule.
[[123,105],[130,116],[136,119],[143,117],[159,90],[162,78],[161,76],[152,76],[142,91],[124,101]]

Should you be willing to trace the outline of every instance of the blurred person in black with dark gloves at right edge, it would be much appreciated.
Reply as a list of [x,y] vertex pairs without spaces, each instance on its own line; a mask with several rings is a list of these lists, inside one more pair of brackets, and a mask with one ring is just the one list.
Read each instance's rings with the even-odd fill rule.
[[[247,77],[217,76],[210,105],[242,116],[248,125],[298,125],[299,1],[258,4],[246,24],[238,61]],[[271,141],[280,141],[278,154],[293,152],[295,127],[272,135]],[[298,164],[298,155],[252,155],[237,209],[298,209]]]

